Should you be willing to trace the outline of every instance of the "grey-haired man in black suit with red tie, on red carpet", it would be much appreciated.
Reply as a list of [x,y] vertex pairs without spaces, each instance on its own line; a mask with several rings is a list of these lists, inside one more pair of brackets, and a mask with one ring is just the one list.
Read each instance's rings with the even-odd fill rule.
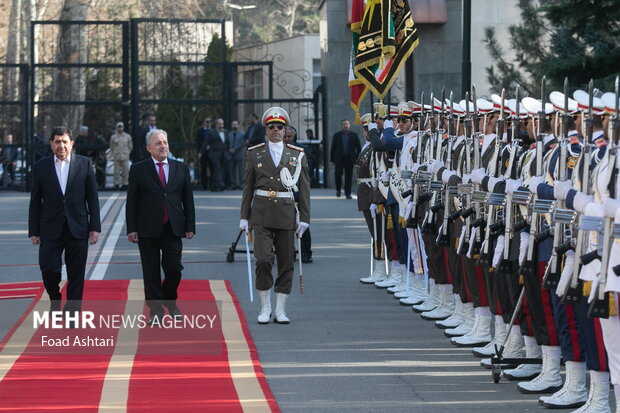
[[144,295],[153,323],[161,320],[164,306],[172,316],[181,314],[176,306],[183,270],[181,238],[193,238],[196,217],[189,168],[168,159],[167,133],[156,129],[146,139],[151,156],[131,165],[125,213],[127,238],[140,250]]

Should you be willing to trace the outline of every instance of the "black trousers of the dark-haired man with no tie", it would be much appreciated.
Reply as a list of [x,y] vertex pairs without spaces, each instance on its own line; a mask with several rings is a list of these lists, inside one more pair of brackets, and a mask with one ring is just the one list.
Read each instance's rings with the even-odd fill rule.
[[[42,239],[39,246],[39,267],[43,285],[50,300],[60,300],[62,253],[67,266],[67,300],[80,301],[84,292],[84,273],[88,255],[88,239],[77,239],[65,222],[59,239]],[[79,306],[79,303],[77,304]]]

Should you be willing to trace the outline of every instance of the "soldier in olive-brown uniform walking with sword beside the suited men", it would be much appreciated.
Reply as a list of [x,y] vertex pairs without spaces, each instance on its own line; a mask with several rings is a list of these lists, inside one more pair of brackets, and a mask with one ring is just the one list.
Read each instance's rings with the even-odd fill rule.
[[[271,288],[276,292],[274,322],[288,324],[286,300],[291,293],[295,236],[310,224],[310,178],[302,148],[282,142],[288,113],[278,106],[267,109],[262,124],[268,142],[248,148],[239,227],[254,230],[256,288],[260,293],[259,324],[271,319]],[[299,192],[298,207],[293,192]],[[274,254],[275,253],[275,254]],[[278,260],[275,279],[273,260]]]

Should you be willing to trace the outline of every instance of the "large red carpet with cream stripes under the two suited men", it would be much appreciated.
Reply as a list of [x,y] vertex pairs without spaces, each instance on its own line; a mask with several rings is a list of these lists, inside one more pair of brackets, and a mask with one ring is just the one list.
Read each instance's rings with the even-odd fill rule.
[[[36,291],[36,298],[0,342],[0,411],[279,411],[239,303],[225,281],[184,280],[179,287],[184,315],[200,302],[221,319],[221,329],[210,336],[187,344],[157,336],[168,334],[164,329],[110,328],[103,336],[113,337],[113,348],[77,355],[42,351],[42,335],[50,330],[33,329],[33,313],[49,309],[49,301],[40,283],[0,284],[0,297],[14,288],[31,288],[15,290],[15,295]],[[104,311],[110,314],[127,314],[143,298],[141,280],[87,281],[84,291],[85,303],[106,300]],[[201,351],[183,353],[184,346]],[[163,348],[165,355],[157,351]]]

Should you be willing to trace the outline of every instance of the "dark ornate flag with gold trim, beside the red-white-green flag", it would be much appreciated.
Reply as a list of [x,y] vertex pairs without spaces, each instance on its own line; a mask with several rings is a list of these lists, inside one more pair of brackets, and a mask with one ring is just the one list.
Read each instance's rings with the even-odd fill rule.
[[418,44],[408,1],[368,0],[355,55],[356,79],[382,99]]

